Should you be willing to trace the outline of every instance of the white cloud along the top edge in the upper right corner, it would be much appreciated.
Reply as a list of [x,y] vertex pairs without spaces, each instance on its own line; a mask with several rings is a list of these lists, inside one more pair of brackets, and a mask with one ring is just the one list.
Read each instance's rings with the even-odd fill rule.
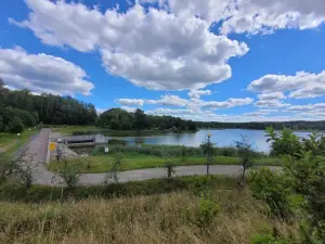
[[325,22],[323,0],[206,0],[204,4],[197,0],[166,2],[164,8],[178,15],[195,15],[210,23],[221,23],[222,34],[270,34],[284,28],[309,29]]

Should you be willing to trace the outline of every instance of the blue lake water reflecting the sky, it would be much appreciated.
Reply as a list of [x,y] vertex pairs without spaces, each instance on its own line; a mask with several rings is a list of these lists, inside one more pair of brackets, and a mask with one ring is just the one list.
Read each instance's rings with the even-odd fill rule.
[[[235,141],[240,140],[240,136],[245,136],[252,143],[253,149],[259,152],[270,152],[271,143],[266,142],[265,132],[263,130],[245,130],[245,129],[224,129],[224,130],[205,130],[202,129],[194,133],[166,133],[159,136],[145,137],[107,137],[108,139],[125,140],[128,144],[134,144],[136,141],[146,144],[170,144],[198,146],[205,140],[207,134],[211,133],[211,142],[217,146],[234,146]],[[299,137],[308,137],[310,132],[295,132]]]

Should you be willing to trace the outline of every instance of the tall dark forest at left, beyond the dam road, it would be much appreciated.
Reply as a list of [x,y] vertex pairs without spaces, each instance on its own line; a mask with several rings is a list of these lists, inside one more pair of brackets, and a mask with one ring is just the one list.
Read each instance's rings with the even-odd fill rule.
[[10,90],[0,78],[0,132],[22,132],[25,127],[47,125],[94,125],[96,110],[72,97],[32,94]]

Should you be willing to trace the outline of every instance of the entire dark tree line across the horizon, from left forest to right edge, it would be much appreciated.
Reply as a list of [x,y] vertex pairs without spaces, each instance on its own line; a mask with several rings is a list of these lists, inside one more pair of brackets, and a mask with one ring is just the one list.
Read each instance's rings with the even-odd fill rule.
[[110,130],[169,130],[171,132],[209,129],[274,129],[325,130],[325,121],[259,121],[220,123],[192,121],[173,116],[155,116],[138,108],[128,112],[110,108],[98,116],[93,104],[69,95],[35,94],[28,90],[10,90],[0,78],[0,132],[18,133],[38,125],[95,125]]

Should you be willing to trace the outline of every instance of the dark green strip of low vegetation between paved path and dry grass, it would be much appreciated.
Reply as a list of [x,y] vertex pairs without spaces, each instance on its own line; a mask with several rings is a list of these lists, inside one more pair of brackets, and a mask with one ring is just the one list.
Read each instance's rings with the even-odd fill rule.
[[173,191],[193,190],[204,188],[233,189],[235,180],[225,176],[191,176],[171,179],[154,179],[145,181],[130,181],[127,183],[113,183],[108,185],[91,185],[77,188],[62,188],[48,185],[26,187],[16,182],[6,182],[0,185],[0,198],[17,202],[49,202],[67,198],[84,200],[88,197],[120,197],[134,195],[151,195],[169,193]]

